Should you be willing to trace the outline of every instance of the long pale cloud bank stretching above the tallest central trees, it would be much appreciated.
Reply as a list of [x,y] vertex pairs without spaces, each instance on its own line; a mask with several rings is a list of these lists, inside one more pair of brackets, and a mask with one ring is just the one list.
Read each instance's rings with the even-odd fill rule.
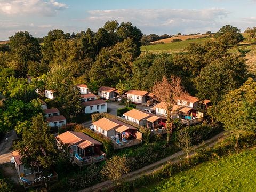
[[115,9],[91,10],[89,17],[81,19],[93,30],[102,27],[108,20],[132,22],[142,33],[175,34],[202,33],[211,29],[218,30],[222,19],[229,11],[219,8],[211,9]]

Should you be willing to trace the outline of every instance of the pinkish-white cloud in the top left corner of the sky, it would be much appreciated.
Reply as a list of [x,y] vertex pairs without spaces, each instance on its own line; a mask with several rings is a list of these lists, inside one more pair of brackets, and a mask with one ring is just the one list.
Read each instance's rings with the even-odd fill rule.
[[0,0],[0,12],[5,15],[38,14],[53,16],[68,6],[54,0]]

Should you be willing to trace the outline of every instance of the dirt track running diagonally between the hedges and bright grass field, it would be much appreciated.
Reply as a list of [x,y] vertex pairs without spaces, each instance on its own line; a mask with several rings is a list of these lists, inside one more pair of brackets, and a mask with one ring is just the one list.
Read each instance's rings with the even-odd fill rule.
[[[222,137],[224,133],[225,132],[223,131],[223,132],[219,133],[218,135],[215,135],[211,139],[206,140],[204,142],[204,144],[207,144],[207,147],[214,146],[215,143],[218,142],[218,139],[220,137]],[[201,147],[201,146],[202,146],[202,144],[197,145],[197,146],[195,146],[195,149],[198,148],[198,147]],[[193,154],[194,153],[191,153],[190,156],[193,155]],[[130,172],[130,173],[126,174],[126,175],[123,175],[123,180],[125,180],[125,181],[132,181],[132,180],[135,180],[135,179],[141,177],[143,174],[150,174],[150,173],[152,173],[154,171],[162,169],[162,165],[163,164],[165,164],[166,162],[169,162],[169,161],[175,163],[175,162],[179,161],[179,159],[175,159],[175,158],[180,157],[182,155],[184,155],[183,151],[179,151],[179,152],[177,152],[177,153],[175,153],[173,155],[170,155],[169,157],[166,157],[164,159],[161,159],[161,160],[159,160],[159,161],[157,161],[157,162],[155,162],[153,164],[150,164],[148,166],[142,167],[139,170],[136,170],[136,171]],[[110,180],[107,180],[107,181],[98,183],[97,185],[91,186],[89,188],[80,190],[80,192],[101,191],[103,188],[109,188],[111,186],[112,186],[112,182]]]

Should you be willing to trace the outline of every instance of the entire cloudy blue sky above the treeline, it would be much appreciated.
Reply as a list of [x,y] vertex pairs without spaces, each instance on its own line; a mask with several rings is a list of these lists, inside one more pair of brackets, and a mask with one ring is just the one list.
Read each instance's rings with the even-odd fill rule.
[[256,26],[256,0],[0,0],[0,41],[17,31],[97,31],[107,21],[131,22],[143,34],[216,32]]

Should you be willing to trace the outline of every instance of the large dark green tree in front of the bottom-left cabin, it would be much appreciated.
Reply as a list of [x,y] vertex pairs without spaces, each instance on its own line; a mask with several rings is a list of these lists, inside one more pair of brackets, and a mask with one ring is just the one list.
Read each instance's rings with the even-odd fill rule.
[[32,118],[31,127],[23,130],[22,140],[14,146],[26,167],[42,167],[43,174],[58,161],[58,147],[42,114]]

